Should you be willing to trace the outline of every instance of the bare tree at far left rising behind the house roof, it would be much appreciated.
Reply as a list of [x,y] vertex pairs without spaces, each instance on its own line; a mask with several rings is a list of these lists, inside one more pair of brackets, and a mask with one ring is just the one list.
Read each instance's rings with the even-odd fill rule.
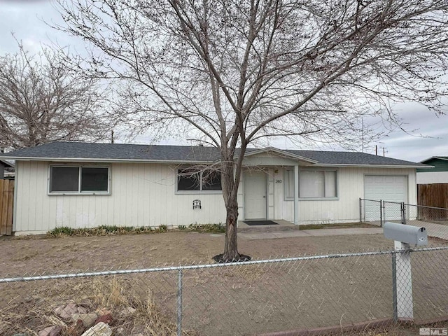
[[97,80],[71,71],[48,49],[30,55],[18,46],[0,56],[0,147],[104,139],[109,125]]

